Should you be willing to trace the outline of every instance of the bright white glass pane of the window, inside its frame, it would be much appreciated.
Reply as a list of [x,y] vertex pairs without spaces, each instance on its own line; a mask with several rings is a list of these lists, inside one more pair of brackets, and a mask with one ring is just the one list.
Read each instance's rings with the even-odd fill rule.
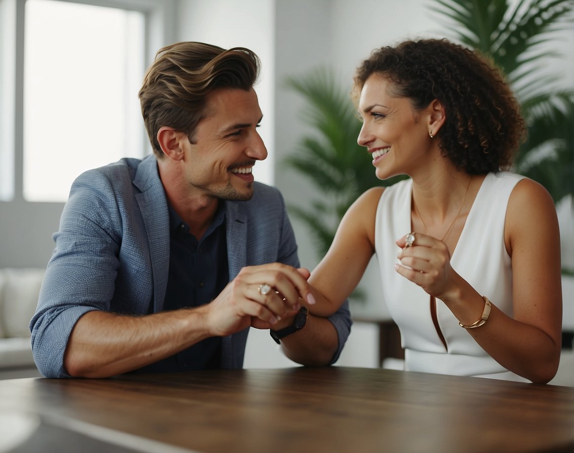
[[144,14],[28,0],[24,33],[24,199],[64,201],[81,172],[144,153]]

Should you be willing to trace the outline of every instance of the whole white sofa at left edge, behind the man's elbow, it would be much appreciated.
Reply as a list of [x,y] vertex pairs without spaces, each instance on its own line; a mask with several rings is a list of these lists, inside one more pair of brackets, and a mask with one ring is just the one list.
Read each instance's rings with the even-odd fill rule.
[[0,379],[40,376],[30,330],[45,269],[0,269]]

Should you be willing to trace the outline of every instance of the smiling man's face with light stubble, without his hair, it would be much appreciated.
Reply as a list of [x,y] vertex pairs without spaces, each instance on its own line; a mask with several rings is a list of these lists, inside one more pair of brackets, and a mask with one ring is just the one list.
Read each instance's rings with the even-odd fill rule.
[[195,143],[180,146],[192,196],[249,200],[253,196],[255,161],[267,157],[257,132],[262,119],[255,90],[222,88],[205,104],[205,118],[196,127]]

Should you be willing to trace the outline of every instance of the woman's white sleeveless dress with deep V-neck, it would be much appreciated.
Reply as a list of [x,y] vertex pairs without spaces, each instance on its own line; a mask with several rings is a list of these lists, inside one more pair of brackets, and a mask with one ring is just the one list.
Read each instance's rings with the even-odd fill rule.
[[[504,224],[510,193],[521,179],[523,176],[509,172],[486,176],[451,257],[452,268],[509,316],[513,316],[512,270],[504,243]],[[445,348],[430,315],[430,296],[395,271],[400,251],[395,240],[411,229],[411,198],[410,179],[387,187],[375,220],[382,295],[401,331],[405,370],[530,382],[491,358],[437,299],[437,319],[447,343]]]

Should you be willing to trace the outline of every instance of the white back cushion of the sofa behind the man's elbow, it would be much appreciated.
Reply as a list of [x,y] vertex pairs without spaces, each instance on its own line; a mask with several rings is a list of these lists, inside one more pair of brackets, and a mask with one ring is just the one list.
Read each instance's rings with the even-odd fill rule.
[[3,269],[0,293],[0,325],[5,337],[29,338],[30,319],[38,305],[45,269]]

